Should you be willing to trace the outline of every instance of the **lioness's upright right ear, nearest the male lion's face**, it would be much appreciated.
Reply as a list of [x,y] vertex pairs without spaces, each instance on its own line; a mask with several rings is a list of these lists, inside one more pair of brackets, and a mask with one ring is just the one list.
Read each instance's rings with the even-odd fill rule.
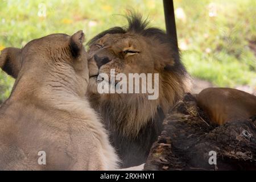
[[76,32],[76,34],[71,36],[70,40],[70,48],[72,55],[74,57],[77,57],[80,55],[81,49],[82,49],[82,43],[84,42],[84,33],[82,30]]

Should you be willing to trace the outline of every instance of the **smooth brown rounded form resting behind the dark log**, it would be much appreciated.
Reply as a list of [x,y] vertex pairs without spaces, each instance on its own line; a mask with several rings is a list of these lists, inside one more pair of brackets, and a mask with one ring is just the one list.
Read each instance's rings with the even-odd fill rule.
[[256,97],[241,90],[207,88],[196,95],[196,100],[218,125],[256,116]]

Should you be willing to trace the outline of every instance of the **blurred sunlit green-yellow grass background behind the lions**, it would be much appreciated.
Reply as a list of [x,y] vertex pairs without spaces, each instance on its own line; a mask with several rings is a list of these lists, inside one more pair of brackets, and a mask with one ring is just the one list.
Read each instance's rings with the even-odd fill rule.
[[[174,0],[179,48],[192,76],[216,86],[256,88],[256,1]],[[125,26],[135,10],[165,28],[160,0],[0,0],[0,50],[22,47],[53,33],[84,30],[89,40],[106,28]],[[0,102],[14,79],[0,72]]]

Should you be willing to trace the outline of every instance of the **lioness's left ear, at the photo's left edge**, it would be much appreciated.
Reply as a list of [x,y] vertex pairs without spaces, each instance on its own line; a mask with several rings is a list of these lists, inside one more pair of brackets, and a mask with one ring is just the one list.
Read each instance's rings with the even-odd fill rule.
[[0,67],[8,75],[16,78],[22,67],[21,49],[9,47],[1,51]]

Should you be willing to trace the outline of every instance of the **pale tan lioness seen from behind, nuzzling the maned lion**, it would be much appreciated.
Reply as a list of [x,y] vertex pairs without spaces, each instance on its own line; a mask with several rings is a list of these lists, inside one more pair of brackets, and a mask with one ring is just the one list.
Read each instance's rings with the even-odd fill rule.
[[[0,67],[16,81],[0,107],[1,170],[117,168],[114,149],[85,98],[88,55],[82,42],[79,31],[3,49]],[[46,165],[38,163],[39,151]]]

